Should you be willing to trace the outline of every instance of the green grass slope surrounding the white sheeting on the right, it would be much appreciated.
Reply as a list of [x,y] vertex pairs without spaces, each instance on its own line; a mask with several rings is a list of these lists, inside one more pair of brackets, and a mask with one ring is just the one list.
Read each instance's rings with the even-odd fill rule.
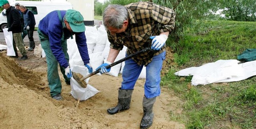
[[184,101],[181,114],[170,111],[172,120],[188,129],[256,128],[256,77],[188,87],[192,76],[174,75],[186,67],[236,59],[245,49],[256,48],[256,22],[206,21],[188,30],[179,42],[168,39],[166,44],[174,50],[178,67],[170,68],[161,86]]

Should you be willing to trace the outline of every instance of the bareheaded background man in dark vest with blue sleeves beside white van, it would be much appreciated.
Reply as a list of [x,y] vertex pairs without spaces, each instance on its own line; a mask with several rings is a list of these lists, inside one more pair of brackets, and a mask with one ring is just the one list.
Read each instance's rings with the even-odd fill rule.
[[26,9],[25,6],[20,6],[20,11],[24,14],[25,25],[23,30],[26,30],[28,33],[28,39],[29,39],[28,51],[34,51],[34,48],[36,47],[34,38],[33,38],[35,25],[36,25],[34,14],[30,10]]

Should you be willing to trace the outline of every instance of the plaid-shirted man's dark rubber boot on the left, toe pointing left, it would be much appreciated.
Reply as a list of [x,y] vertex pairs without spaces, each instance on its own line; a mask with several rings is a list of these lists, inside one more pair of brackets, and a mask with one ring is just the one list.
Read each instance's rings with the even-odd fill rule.
[[108,114],[113,115],[121,111],[128,110],[130,108],[130,103],[132,99],[133,89],[118,89],[118,103],[116,107],[109,108],[107,110]]

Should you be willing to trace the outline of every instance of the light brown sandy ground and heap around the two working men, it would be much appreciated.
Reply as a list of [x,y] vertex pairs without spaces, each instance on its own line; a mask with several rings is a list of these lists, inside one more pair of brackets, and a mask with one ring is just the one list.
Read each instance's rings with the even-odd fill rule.
[[[90,77],[89,84],[100,92],[78,104],[70,94],[70,85],[66,85],[60,74],[64,100],[56,101],[49,93],[46,59],[34,57],[34,52],[28,52],[28,58],[19,61],[6,56],[5,50],[0,52],[0,128],[139,129],[144,79],[136,83],[130,109],[108,115],[106,109],[117,103],[121,75]],[[168,61],[164,63],[168,65]],[[165,71],[168,69],[163,69],[162,73]],[[185,129],[182,123],[170,121],[169,116],[170,111],[181,113],[182,103],[173,91],[162,87],[154,104],[154,123],[150,129]]]

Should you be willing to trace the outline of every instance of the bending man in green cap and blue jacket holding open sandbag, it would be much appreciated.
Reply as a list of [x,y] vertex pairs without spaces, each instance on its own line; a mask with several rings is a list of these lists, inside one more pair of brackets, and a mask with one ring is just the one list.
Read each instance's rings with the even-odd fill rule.
[[53,99],[62,99],[60,95],[62,85],[58,75],[58,64],[66,84],[70,85],[72,73],[68,64],[67,39],[70,37],[72,39],[74,34],[84,65],[88,68],[89,73],[92,73],[84,31],[84,18],[76,10],[52,11],[40,20],[38,24],[38,35],[46,54],[47,76],[50,94]]

